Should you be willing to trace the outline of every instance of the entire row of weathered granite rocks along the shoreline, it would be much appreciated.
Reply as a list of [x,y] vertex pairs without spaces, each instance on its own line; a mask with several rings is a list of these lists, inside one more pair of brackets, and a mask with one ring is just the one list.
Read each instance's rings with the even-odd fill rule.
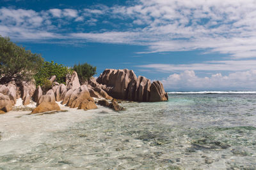
[[36,88],[35,81],[24,82],[21,87],[17,87],[15,82],[0,85],[0,113],[12,110],[19,97],[22,98],[23,105],[30,104],[31,97],[36,102],[36,108],[31,113],[60,111],[60,106],[56,103],[60,101],[70,108],[96,109],[93,97],[98,98],[100,105],[115,111],[124,110],[116,99],[139,102],[168,100],[160,81],[150,83],[150,80],[143,76],[137,78],[134,72],[128,69],[106,69],[97,80],[92,77],[83,85],[80,85],[76,71],[67,75],[66,85],[54,81],[55,79],[56,76],[51,77],[52,87],[49,90],[40,86]]

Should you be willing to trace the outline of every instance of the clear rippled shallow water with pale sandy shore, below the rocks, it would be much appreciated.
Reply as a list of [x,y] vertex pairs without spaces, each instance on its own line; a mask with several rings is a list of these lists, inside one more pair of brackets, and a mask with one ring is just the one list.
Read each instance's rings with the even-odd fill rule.
[[256,94],[122,106],[0,115],[0,168],[256,169]]

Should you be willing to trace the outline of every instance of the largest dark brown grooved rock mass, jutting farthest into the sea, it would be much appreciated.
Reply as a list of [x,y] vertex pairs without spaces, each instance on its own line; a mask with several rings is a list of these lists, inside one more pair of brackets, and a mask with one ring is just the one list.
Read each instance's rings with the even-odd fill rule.
[[168,100],[168,94],[164,92],[163,84],[160,81],[151,83],[144,76],[138,76],[137,78],[132,70],[105,69],[96,81],[101,84],[102,89],[109,96],[115,99],[139,102]]

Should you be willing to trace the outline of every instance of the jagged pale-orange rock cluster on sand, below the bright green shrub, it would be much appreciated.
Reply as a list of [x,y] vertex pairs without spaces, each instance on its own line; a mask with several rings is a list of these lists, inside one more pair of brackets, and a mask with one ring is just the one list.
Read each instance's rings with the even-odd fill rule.
[[[52,76],[50,81],[54,81],[56,76]],[[45,111],[58,111],[60,106],[56,101],[61,101],[70,108],[78,108],[83,110],[96,109],[95,101],[90,96],[90,92],[86,85],[80,85],[76,71],[72,73],[70,78],[67,78],[67,85],[58,82],[52,82],[52,89],[48,90],[43,95],[43,90],[40,86],[35,90],[33,96],[36,102],[36,108],[32,113],[42,113]]]

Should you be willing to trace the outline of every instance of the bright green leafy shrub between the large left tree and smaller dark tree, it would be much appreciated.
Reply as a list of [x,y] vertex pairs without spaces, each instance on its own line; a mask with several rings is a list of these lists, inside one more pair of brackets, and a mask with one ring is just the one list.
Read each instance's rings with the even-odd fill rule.
[[35,74],[36,85],[43,86],[51,76],[55,75],[55,81],[58,83],[66,83],[66,75],[71,72],[71,69],[63,66],[62,64],[51,62],[44,62],[42,67],[38,69],[38,73]]

